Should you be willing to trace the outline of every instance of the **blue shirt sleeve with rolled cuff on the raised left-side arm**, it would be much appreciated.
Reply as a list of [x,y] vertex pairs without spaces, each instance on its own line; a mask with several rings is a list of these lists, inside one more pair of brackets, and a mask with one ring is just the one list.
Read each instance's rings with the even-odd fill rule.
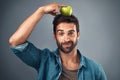
[[21,45],[11,47],[13,53],[18,56],[23,62],[34,67],[39,68],[41,50],[36,48],[32,43],[25,42]]

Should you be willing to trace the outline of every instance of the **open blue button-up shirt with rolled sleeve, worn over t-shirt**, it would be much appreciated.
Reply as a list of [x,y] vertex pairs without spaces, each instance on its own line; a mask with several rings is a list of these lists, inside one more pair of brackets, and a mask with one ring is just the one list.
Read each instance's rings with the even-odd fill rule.
[[[23,62],[37,70],[38,80],[59,79],[62,73],[62,64],[58,49],[55,51],[40,50],[28,41],[11,49]],[[80,55],[78,80],[107,80],[100,64],[86,58],[79,50],[77,51]]]

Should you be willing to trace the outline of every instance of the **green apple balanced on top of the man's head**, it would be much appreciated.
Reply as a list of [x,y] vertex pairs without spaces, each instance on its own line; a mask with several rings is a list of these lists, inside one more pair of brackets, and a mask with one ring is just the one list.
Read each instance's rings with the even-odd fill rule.
[[71,16],[72,15],[72,7],[71,6],[64,6],[60,9],[60,12],[64,16]]

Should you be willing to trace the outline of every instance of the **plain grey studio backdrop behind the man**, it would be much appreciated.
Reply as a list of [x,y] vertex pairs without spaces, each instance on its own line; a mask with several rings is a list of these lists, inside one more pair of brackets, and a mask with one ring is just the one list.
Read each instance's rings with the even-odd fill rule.
[[[0,0],[0,80],[37,80],[37,72],[17,58],[8,39],[38,7],[55,0]],[[78,47],[102,64],[108,80],[120,79],[120,0],[56,0],[73,7],[80,21]],[[29,41],[39,48],[56,48],[53,16],[45,15]]]

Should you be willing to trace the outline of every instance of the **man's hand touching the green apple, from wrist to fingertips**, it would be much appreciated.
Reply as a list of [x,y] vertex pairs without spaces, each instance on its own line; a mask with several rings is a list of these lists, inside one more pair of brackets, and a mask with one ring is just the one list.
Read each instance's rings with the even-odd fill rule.
[[51,14],[55,16],[60,12],[61,7],[63,6],[66,6],[66,5],[58,4],[58,3],[50,3],[42,6],[41,8],[44,14]]

